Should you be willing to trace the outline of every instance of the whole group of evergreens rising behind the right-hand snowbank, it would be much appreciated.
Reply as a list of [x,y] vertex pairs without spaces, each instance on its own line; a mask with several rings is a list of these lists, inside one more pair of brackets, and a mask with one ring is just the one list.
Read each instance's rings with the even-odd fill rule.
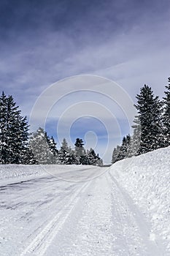
[[137,115],[132,126],[133,135],[124,136],[122,144],[114,148],[112,164],[170,146],[170,78],[168,83],[162,100],[154,95],[150,86],[142,86],[134,105]]

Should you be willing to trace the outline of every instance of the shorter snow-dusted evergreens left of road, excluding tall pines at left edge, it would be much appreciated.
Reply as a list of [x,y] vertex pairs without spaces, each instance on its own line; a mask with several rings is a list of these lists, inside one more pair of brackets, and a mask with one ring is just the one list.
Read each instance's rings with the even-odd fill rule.
[[63,138],[61,148],[58,150],[53,136],[50,138],[41,127],[31,133],[29,145],[39,164],[103,165],[102,159],[93,148],[85,150],[82,139],[77,138],[74,148],[71,148]]

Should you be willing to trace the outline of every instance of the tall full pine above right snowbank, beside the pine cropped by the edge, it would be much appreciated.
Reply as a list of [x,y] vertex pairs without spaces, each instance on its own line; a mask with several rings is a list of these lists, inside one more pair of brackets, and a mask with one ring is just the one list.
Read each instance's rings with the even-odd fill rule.
[[152,89],[144,85],[136,96],[138,118],[141,128],[139,154],[161,148],[163,146],[161,125],[161,101],[154,96]]

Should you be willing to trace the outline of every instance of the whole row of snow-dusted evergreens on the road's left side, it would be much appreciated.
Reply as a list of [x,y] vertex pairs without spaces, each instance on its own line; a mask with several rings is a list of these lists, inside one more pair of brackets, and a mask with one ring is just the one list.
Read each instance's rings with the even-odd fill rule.
[[26,117],[21,115],[12,96],[0,97],[0,164],[103,165],[93,148],[85,150],[77,138],[74,148],[63,139],[58,150],[53,137],[39,127],[29,134]]

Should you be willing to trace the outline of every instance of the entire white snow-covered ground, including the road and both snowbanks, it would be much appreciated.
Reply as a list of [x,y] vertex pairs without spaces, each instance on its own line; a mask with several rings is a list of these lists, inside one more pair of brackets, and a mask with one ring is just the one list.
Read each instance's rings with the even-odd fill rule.
[[170,255],[170,148],[115,163],[0,166],[0,255]]

